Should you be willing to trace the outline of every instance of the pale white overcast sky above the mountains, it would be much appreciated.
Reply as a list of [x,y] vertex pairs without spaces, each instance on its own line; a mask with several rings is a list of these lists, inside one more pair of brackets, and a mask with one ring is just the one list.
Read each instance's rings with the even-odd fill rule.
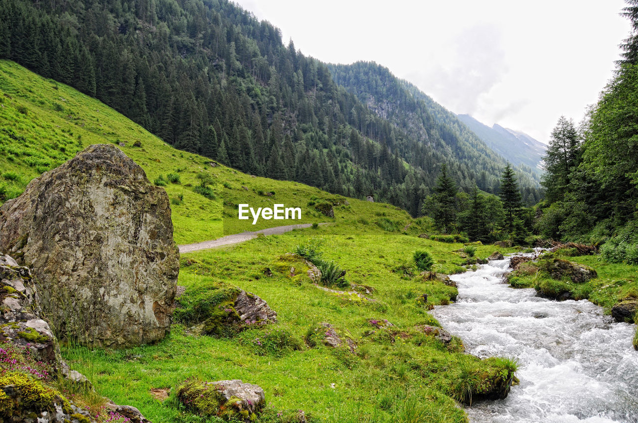
[[236,0],[324,62],[375,61],[455,113],[546,142],[612,76],[623,0]]

